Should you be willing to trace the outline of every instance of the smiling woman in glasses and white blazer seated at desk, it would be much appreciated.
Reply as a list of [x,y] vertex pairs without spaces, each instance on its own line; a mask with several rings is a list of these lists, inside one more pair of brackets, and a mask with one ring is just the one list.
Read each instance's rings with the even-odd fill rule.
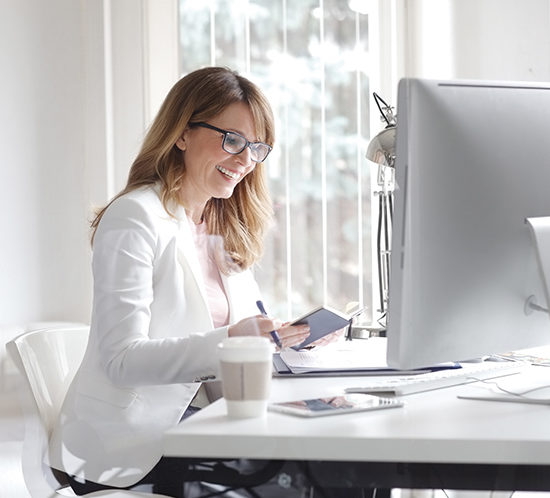
[[77,493],[155,480],[162,434],[201,381],[218,378],[222,339],[278,329],[291,346],[309,334],[256,308],[250,268],[271,215],[262,162],[273,142],[254,84],[195,71],[169,92],[126,188],[93,221],[90,338],[50,441],[50,465]]

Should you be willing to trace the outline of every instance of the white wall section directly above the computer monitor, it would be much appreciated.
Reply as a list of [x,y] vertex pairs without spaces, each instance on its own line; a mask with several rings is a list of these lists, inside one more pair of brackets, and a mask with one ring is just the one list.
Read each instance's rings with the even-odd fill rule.
[[400,76],[550,81],[549,0],[397,0]]

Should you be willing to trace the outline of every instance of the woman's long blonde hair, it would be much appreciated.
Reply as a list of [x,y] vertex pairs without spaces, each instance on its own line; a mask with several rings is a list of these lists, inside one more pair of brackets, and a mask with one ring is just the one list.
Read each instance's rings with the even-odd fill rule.
[[[271,106],[254,83],[222,67],[203,68],[184,76],[166,96],[145,136],[130,168],[126,187],[98,211],[92,221],[92,243],[110,204],[145,185],[160,184],[162,203],[172,215],[171,206],[181,204],[179,191],[185,177],[183,153],[175,145],[176,141],[189,124],[208,121],[236,102],[249,106],[256,139],[273,146],[275,129]],[[212,198],[204,210],[209,233],[221,236],[225,251],[241,269],[260,258],[271,218],[271,199],[261,163],[236,185],[230,198]],[[225,266],[222,271],[228,273],[230,269]]]

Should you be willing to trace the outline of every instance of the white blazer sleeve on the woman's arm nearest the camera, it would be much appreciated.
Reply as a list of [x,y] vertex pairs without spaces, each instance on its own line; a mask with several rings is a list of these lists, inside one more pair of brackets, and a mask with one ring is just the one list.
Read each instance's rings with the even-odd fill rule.
[[163,337],[149,336],[162,225],[157,214],[133,199],[120,198],[106,211],[94,238],[90,347],[107,376],[119,386],[217,376],[215,348],[227,337],[227,327],[182,334],[170,330],[170,324]]

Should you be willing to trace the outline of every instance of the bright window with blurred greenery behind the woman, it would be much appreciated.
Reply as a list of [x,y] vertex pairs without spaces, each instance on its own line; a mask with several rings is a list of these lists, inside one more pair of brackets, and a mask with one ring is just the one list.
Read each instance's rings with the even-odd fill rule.
[[372,300],[365,151],[369,29],[378,20],[366,6],[375,3],[179,0],[181,75],[231,67],[273,106],[277,143],[266,166],[276,226],[256,276],[270,312],[281,317]]

